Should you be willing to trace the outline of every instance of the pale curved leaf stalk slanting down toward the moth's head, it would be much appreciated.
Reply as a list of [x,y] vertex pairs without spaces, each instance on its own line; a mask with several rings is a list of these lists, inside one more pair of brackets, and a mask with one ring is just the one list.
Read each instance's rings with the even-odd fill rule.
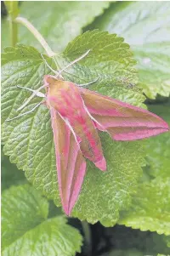
[[31,31],[31,33],[34,35],[34,37],[37,38],[37,41],[41,43],[42,47],[45,49],[46,53],[48,54],[48,57],[53,57],[56,55],[54,51],[48,46],[48,43],[45,41],[45,39],[42,37],[42,35],[37,31],[37,29],[30,23],[30,21],[26,20],[22,17],[17,17],[15,19],[15,22],[20,23],[26,28]]

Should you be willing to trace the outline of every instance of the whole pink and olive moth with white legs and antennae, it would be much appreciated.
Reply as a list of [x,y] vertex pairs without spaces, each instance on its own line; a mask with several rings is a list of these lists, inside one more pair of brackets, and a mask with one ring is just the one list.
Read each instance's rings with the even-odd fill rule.
[[[89,50],[65,69],[88,53]],[[71,215],[86,174],[86,158],[102,171],[107,168],[98,131],[107,132],[115,140],[130,141],[161,134],[169,128],[167,122],[150,111],[64,81],[61,72],[65,69],[53,70],[55,76],[44,76],[44,84],[37,90],[26,88],[33,94],[19,110],[35,95],[45,99],[54,134],[59,195],[65,213]],[[42,88],[46,94],[40,92]]]

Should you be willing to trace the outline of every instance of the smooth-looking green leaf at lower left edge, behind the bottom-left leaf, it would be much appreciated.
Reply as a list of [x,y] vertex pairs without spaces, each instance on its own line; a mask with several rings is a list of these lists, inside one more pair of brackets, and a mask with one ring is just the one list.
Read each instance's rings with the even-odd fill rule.
[[48,202],[31,185],[13,186],[2,196],[3,248],[48,217]]

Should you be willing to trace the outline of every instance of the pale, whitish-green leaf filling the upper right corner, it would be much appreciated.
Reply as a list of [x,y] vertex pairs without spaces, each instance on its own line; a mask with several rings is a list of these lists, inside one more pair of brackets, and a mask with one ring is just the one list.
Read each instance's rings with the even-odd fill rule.
[[113,3],[95,20],[92,29],[117,33],[124,37],[138,60],[139,84],[144,94],[170,94],[170,3]]

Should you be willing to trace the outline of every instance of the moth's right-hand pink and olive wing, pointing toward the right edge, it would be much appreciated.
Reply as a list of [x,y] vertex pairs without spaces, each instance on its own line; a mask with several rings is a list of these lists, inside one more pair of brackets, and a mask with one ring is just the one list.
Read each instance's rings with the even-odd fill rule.
[[[112,139],[144,139],[169,130],[167,122],[137,106],[80,88],[84,104],[96,120],[96,127]],[[94,104],[95,102],[95,104]]]

